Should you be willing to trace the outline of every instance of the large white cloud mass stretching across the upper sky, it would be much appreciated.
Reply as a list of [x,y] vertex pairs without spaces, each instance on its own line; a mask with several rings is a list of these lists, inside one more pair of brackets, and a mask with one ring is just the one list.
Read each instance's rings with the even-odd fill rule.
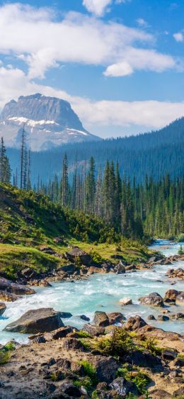
[[[104,5],[105,0],[96,4]],[[0,38],[0,53],[21,57],[30,79],[43,78],[61,62],[103,65],[105,76],[114,76],[114,70],[115,76],[125,76],[136,69],[178,69],[173,57],[139,48],[152,47],[153,35],[80,13],[70,12],[59,20],[50,9],[6,4],[0,7]]]

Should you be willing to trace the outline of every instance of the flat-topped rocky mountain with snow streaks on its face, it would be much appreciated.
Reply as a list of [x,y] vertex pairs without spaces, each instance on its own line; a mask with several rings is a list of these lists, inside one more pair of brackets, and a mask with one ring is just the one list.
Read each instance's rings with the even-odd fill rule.
[[25,125],[31,150],[50,150],[69,142],[100,140],[84,129],[69,102],[42,94],[21,96],[6,103],[0,116],[0,134],[6,146],[20,147]]

